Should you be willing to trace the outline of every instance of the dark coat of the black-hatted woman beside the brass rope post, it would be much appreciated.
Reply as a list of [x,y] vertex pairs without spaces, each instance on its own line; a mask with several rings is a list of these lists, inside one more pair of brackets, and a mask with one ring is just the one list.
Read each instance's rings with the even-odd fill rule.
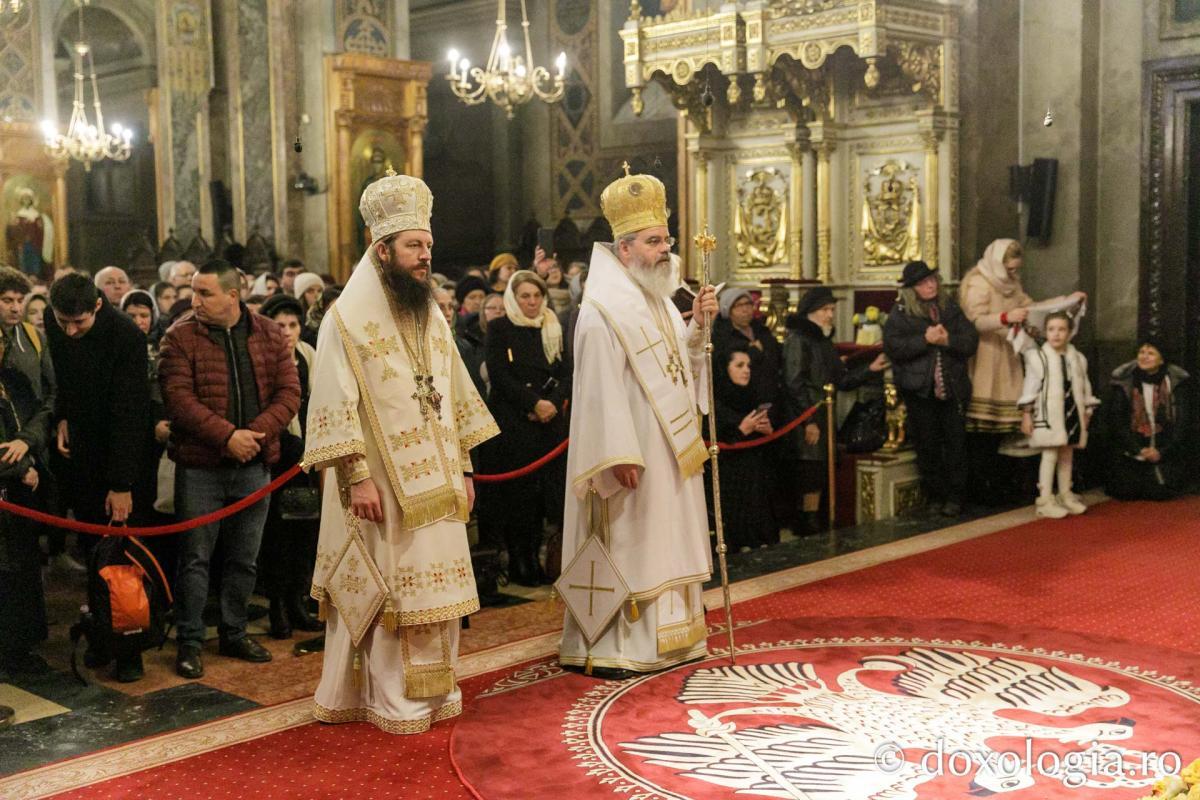
[[[784,339],[784,391],[787,393],[787,419],[793,420],[817,403],[824,401],[826,384],[840,391],[858,389],[871,377],[870,362],[853,369],[838,355],[833,332],[826,336],[821,326],[808,317],[792,314],[787,318],[787,338]],[[751,373],[752,374],[752,373]],[[802,425],[792,432],[791,440],[800,461],[826,461],[829,455],[828,425],[826,413],[817,411],[811,417],[821,428],[821,439],[815,445],[804,440]]]

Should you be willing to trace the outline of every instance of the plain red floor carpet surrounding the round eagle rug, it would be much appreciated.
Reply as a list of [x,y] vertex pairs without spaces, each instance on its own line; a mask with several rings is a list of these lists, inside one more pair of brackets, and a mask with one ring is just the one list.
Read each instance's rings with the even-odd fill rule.
[[[805,637],[864,636],[864,631],[875,630],[872,626],[881,624],[878,620],[840,621],[838,628],[822,632],[827,624],[811,618],[907,619],[912,621],[911,632],[924,638],[953,638],[948,636],[953,628],[954,636],[967,637],[968,640],[1070,648],[1087,657],[1117,660],[1180,678],[1186,675],[1189,664],[1175,651],[1200,654],[1200,628],[1195,625],[1195,620],[1200,619],[1200,608],[1190,558],[1198,537],[1200,499],[1162,505],[1105,503],[1081,518],[1031,523],[749,601],[736,610],[739,620],[805,618],[803,624],[792,622],[797,626],[796,631]],[[947,618],[960,621],[919,621]],[[972,624],[972,620],[979,625]],[[778,626],[782,622],[770,625],[770,628],[755,626],[742,631],[739,643],[757,642],[760,628],[772,634],[764,640],[776,640],[782,630]],[[896,624],[888,625],[896,627]],[[847,626],[854,630],[845,630]],[[947,634],[941,634],[940,630]],[[910,631],[888,636],[907,633]],[[835,684],[842,670],[822,672],[821,676]],[[502,678],[492,674],[463,681],[468,709],[467,717],[460,723],[463,735],[478,715],[504,697],[475,702],[481,691]],[[566,681],[565,678],[556,679],[550,685],[565,685]],[[1124,688],[1127,682],[1121,681],[1122,691],[1128,691]],[[588,681],[588,685],[599,684]],[[540,692],[540,686],[535,686],[511,692],[508,697],[521,697],[522,714],[528,714],[539,708]],[[1156,693],[1151,696],[1151,692]],[[1158,741],[1160,736],[1178,735],[1178,740],[1170,744],[1183,750],[1184,757],[1200,754],[1200,741],[1193,734],[1170,728],[1175,711],[1165,710],[1168,704],[1160,690],[1148,687],[1136,697],[1130,693],[1130,698],[1122,708],[1105,709],[1104,714],[1088,711],[1069,720],[1056,718],[1055,722],[1075,726],[1080,720],[1115,720],[1136,712],[1141,715],[1136,720],[1138,732],[1133,738],[1122,740],[1121,745],[1150,747],[1152,742],[1144,741],[1144,738]],[[1153,715],[1159,706],[1164,709],[1163,715],[1170,714],[1170,718],[1163,716],[1152,724],[1145,715]],[[494,728],[491,736],[482,745],[473,746],[472,751],[481,757],[488,752],[502,753],[504,770],[511,771],[510,765],[516,764],[520,757],[517,746],[522,744],[515,729],[518,717],[509,717],[504,727]],[[1200,714],[1192,716],[1193,720],[1198,717]],[[547,727],[560,738],[562,720]],[[200,800],[251,795],[266,800],[361,796],[366,792],[374,798],[406,800],[470,798],[457,781],[448,758],[451,729],[451,724],[440,724],[422,736],[395,738],[366,724],[310,724],[59,796],[186,796]],[[1152,733],[1142,734],[1142,730]],[[461,744],[458,752],[462,752]],[[586,771],[570,763],[552,764],[550,754],[550,751],[536,753],[534,770],[520,775],[526,788],[526,794],[521,796],[586,796],[577,794],[587,778]],[[571,770],[578,775],[577,783],[569,790],[557,795],[542,792],[544,772],[568,775],[574,774]],[[688,781],[703,783],[694,778]],[[919,794],[912,796],[935,796],[922,793],[931,786],[923,784]],[[721,796],[732,796],[728,792]],[[611,796],[611,792],[608,794]],[[1140,796],[1140,792],[1130,788],[1088,794],[1087,789],[1081,789],[1069,796],[1097,795],[1123,799]],[[1043,795],[1025,792],[1018,796]]]

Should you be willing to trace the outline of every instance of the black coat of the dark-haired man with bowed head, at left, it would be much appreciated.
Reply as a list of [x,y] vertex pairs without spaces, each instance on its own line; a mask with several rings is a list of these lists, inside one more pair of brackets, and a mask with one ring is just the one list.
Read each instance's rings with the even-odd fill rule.
[[47,313],[46,341],[58,383],[54,419],[67,421],[74,488],[130,492],[150,458],[145,335],[102,302],[91,330],[77,339]]

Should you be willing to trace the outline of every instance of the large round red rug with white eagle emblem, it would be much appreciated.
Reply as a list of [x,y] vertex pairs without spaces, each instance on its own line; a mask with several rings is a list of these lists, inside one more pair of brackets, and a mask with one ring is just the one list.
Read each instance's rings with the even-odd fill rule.
[[[821,800],[941,800],[972,789],[1132,800],[1158,776],[1159,753],[1200,753],[1200,664],[1176,650],[886,618],[773,620],[740,628],[737,640],[748,651],[736,667],[713,657],[624,682],[548,662],[480,696],[455,728],[451,758],[487,800],[613,792],[724,800],[734,789]],[[1128,672],[1147,656],[1159,674]],[[702,735],[707,721],[725,729]],[[996,769],[978,774],[977,758]],[[1123,762],[1123,781],[1106,771],[1110,762]]]

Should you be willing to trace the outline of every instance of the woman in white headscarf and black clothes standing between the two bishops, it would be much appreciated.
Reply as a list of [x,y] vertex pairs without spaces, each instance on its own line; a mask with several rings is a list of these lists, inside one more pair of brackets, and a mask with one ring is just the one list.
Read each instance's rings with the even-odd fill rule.
[[[487,324],[488,405],[500,426],[499,445],[490,450],[492,463],[484,465],[488,473],[520,469],[566,438],[571,365],[546,296],[545,281],[522,270],[504,290],[505,315]],[[546,519],[562,530],[565,469],[560,458],[527,477],[485,485],[480,492],[488,495],[488,507],[504,516],[509,577],[516,583],[546,581],[538,552]],[[550,566],[553,572],[554,565]]]

